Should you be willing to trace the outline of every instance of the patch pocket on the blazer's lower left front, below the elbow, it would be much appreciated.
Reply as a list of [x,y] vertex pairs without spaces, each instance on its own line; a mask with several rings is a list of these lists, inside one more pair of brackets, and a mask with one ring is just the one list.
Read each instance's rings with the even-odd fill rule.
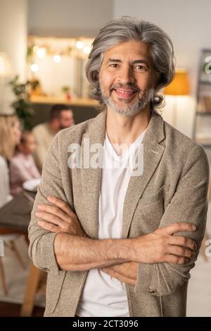
[[61,270],[59,275],[56,273],[48,274],[46,286],[46,311],[49,311],[50,313],[53,313],[56,310],[66,273],[67,271]]

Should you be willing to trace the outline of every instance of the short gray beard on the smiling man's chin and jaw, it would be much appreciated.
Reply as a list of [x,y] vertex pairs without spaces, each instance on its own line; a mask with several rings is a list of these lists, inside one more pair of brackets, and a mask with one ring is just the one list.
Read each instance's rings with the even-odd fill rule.
[[120,107],[118,104],[115,103],[115,101],[112,100],[112,98],[106,96],[106,94],[104,94],[102,90],[101,93],[103,102],[104,104],[106,104],[107,107],[111,108],[115,113],[131,117],[141,112],[142,109],[145,108],[147,104],[149,104],[149,102],[153,99],[154,89],[148,89],[142,95],[139,92],[139,98],[134,104],[127,104],[127,102],[124,102],[124,100],[122,100],[122,103],[124,103],[123,107]]

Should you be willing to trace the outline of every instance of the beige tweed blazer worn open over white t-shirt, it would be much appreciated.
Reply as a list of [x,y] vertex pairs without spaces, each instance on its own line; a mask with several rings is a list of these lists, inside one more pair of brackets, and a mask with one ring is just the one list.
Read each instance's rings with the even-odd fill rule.
[[[103,111],[96,118],[60,131],[46,155],[29,226],[30,257],[35,266],[48,273],[44,316],[75,316],[89,271],[59,270],[53,251],[56,234],[37,225],[37,204],[47,203],[49,195],[68,201],[87,235],[98,239],[101,168],[69,168],[68,146],[77,143],[83,152],[84,138],[89,138],[90,144],[103,145],[105,132]],[[183,235],[200,245],[207,216],[208,180],[203,147],[153,113],[143,139],[143,174],[130,177],[124,199],[122,238],[146,235],[175,222],[190,222],[197,226],[196,232]],[[193,266],[194,261],[185,266],[139,263],[136,285],[126,286],[130,316],[186,316]]]

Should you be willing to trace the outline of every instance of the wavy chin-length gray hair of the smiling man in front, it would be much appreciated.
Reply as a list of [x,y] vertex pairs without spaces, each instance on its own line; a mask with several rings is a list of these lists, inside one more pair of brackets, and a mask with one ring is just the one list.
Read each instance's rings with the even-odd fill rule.
[[157,25],[146,20],[138,20],[130,16],[123,16],[112,20],[103,27],[92,44],[86,67],[87,79],[91,84],[91,96],[98,100],[101,109],[105,108],[101,95],[99,72],[105,52],[111,47],[127,42],[139,40],[150,46],[151,60],[156,75],[155,92],[151,99],[151,109],[156,110],[164,106],[164,98],[158,91],[170,84],[174,77],[175,58],[174,48],[170,37]]

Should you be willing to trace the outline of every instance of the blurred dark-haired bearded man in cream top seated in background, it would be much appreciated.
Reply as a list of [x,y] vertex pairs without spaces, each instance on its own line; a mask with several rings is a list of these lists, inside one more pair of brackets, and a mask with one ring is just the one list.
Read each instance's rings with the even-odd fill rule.
[[63,104],[56,104],[50,111],[50,122],[41,123],[32,130],[37,142],[37,149],[34,151],[34,160],[41,172],[46,151],[49,149],[51,140],[59,130],[75,124],[72,110]]

